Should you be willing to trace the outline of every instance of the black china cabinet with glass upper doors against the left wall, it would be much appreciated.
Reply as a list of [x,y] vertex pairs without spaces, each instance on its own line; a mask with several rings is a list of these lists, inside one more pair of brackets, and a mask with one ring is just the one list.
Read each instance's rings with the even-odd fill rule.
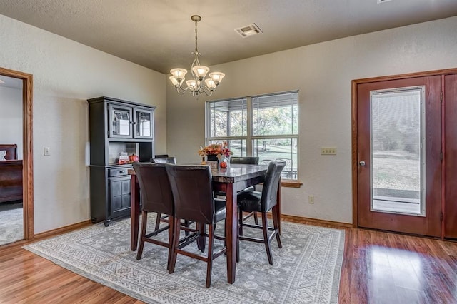
[[130,214],[132,165],[119,164],[121,153],[139,161],[154,158],[154,106],[110,97],[88,100],[91,173],[91,220],[104,221]]

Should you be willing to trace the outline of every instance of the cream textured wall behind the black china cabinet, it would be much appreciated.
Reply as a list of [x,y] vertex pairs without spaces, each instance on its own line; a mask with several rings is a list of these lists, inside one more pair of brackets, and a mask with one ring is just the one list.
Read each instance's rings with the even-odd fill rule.
[[1,67],[34,76],[35,233],[90,218],[86,99],[156,106],[156,153],[166,151],[164,74],[2,15],[0,46]]

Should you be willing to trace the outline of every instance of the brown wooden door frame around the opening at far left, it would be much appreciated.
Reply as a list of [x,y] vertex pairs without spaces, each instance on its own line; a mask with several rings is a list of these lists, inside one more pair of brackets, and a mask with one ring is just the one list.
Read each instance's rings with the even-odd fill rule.
[[32,145],[32,96],[33,76],[20,71],[0,68],[0,75],[18,78],[22,81],[22,201],[24,219],[24,240],[34,238],[34,181]]

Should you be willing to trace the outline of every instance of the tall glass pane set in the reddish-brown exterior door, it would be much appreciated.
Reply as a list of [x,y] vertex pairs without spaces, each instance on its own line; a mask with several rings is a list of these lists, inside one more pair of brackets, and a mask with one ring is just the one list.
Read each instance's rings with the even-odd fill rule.
[[371,211],[425,216],[424,89],[371,92]]

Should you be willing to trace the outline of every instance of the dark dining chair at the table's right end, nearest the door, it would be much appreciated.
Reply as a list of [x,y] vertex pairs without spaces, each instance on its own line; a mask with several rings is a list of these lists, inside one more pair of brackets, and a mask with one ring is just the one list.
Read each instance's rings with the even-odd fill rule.
[[[278,213],[276,213],[277,208],[277,194],[278,186],[281,181],[281,171],[286,166],[286,162],[271,162],[268,165],[268,170],[266,171],[265,181],[263,181],[262,191],[241,191],[237,195],[238,201],[238,217],[239,217],[239,230],[238,230],[238,242],[239,240],[249,240],[257,243],[265,244],[266,255],[268,256],[268,263],[273,265],[273,255],[271,253],[271,240],[276,236],[276,241],[278,242],[278,247],[282,248],[281,239],[279,238],[278,230]],[[268,221],[266,213],[268,211],[272,212],[273,216],[273,227],[268,227]],[[244,223],[243,212],[260,212],[262,214],[262,225],[252,225]],[[243,235],[243,227],[250,228],[260,228],[263,230],[263,239],[247,237]],[[268,234],[268,231],[272,231],[271,234]],[[237,244],[239,248],[239,244]]]

